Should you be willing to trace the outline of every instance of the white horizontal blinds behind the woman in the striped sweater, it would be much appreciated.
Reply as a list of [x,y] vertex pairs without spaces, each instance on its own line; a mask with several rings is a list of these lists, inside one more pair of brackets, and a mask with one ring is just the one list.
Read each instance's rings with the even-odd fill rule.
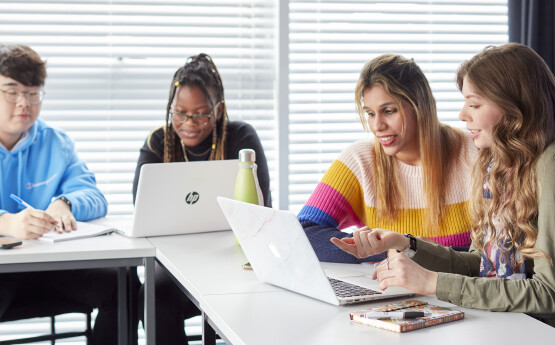
[[508,40],[507,1],[290,1],[289,208],[298,211],[343,148],[367,138],[354,108],[364,63],[399,53],[426,73],[440,119],[460,126],[454,76]]

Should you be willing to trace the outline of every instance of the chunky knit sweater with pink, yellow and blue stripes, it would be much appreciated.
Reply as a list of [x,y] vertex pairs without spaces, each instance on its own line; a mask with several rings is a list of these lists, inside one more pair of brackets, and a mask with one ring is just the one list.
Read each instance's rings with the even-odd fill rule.
[[298,214],[299,221],[321,261],[378,261],[385,254],[359,260],[333,245],[331,237],[351,236],[340,229],[363,227],[390,229],[414,236],[429,237],[446,246],[470,246],[470,174],[476,158],[476,148],[469,139],[459,154],[458,169],[454,169],[446,190],[446,213],[439,233],[424,229],[425,198],[421,166],[397,161],[397,171],[404,193],[404,207],[394,222],[377,216],[375,187],[372,183],[372,141],[359,141],[347,147],[331,165],[307,203]]

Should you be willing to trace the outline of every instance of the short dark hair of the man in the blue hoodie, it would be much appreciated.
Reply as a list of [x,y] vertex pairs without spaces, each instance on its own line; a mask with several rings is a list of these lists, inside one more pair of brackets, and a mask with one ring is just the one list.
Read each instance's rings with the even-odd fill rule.
[[46,62],[26,45],[0,44],[0,74],[25,86],[43,86]]

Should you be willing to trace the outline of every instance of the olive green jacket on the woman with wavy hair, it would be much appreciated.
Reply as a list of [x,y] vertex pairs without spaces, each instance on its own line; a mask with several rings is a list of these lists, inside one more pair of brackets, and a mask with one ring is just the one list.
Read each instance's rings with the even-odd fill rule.
[[[540,191],[536,248],[555,263],[555,143],[537,165]],[[418,240],[413,260],[439,272],[436,295],[463,307],[536,314],[555,326],[555,266],[544,258],[527,259],[528,279],[479,277],[481,253],[474,244],[469,252]]]

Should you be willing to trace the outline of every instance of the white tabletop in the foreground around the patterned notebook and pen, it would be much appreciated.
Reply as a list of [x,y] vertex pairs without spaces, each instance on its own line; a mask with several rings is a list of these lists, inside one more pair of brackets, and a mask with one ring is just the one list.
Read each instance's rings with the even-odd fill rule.
[[[465,312],[465,319],[408,333],[394,333],[349,320],[352,311],[391,301],[337,307],[282,291],[204,296],[203,311],[228,344],[550,344],[555,330],[525,314],[495,313],[436,305]],[[551,340],[549,340],[551,339]]]

